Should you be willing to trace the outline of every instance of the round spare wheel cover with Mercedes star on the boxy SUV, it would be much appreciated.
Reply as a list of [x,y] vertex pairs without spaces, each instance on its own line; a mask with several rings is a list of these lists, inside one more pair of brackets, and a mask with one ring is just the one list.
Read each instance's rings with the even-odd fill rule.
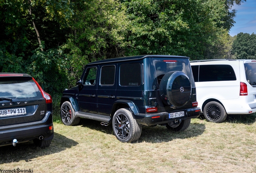
[[165,105],[183,107],[188,103],[191,92],[190,80],[184,72],[167,72],[161,79],[159,93]]

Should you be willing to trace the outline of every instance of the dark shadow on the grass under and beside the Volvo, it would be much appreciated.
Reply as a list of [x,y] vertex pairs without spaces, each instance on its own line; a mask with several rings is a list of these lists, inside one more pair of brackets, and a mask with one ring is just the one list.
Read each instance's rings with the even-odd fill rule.
[[33,141],[18,143],[16,147],[13,147],[12,145],[3,146],[0,147],[0,164],[23,160],[29,162],[36,157],[59,153],[77,144],[76,141],[68,139],[58,133],[54,133],[54,138],[49,147],[39,148],[34,145]]

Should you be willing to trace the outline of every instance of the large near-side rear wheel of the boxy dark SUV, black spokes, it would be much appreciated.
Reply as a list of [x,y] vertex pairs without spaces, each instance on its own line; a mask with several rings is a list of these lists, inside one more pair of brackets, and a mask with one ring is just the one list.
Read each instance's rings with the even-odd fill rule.
[[116,138],[121,142],[131,143],[140,138],[142,127],[127,108],[118,109],[112,120]]

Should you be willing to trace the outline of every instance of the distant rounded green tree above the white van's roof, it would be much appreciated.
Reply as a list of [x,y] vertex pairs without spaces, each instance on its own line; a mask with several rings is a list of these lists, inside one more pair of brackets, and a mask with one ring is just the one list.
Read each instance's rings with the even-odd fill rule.
[[256,34],[237,34],[231,53],[237,59],[256,59]]

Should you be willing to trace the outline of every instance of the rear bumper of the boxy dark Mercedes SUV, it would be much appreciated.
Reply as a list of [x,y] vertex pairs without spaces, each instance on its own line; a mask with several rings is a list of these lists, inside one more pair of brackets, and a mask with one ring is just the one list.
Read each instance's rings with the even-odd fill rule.
[[[174,120],[185,120],[185,119],[192,119],[197,118],[200,115],[200,108],[191,108],[186,110],[180,110],[184,111],[185,115],[183,117],[177,117],[177,118],[169,118],[169,113],[167,112],[161,112],[161,113],[152,113],[152,114],[134,114],[134,117],[138,124],[141,125],[147,125],[147,126],[154,126],[154,125],[161,125],[170,123]],[[178,112],[178,111],[177,111]]]

